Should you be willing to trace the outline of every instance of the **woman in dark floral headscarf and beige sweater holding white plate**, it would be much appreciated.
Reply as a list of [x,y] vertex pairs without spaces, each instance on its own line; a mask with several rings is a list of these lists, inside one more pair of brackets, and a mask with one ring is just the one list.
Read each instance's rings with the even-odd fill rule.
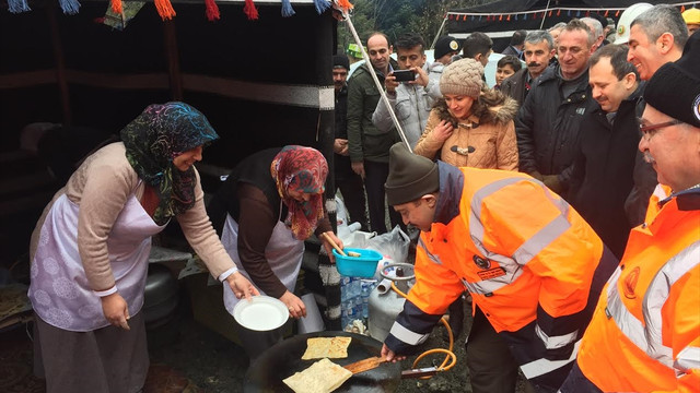
[[141,391],[151,236],[173,217],[214,277],[237,297],[258,295],[213,230],[192,166],[218,138],[187,104],[151,105],[45,209],[32,236],[28,296],[47,392]]

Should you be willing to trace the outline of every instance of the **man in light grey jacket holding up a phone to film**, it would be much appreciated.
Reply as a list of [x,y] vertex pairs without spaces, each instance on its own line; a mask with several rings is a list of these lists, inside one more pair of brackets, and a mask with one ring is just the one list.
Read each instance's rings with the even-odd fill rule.
[[[425,129],[433,100],[442,97],[440,81],[428,76],[425,41],[420,35],[405,34],[394,43],[394,47],[400,70],[389,73],[384,86],[392,109],[412,148]],[[394,129],[389,109],[383,99],[376,105],[372,123],[383,132]]]

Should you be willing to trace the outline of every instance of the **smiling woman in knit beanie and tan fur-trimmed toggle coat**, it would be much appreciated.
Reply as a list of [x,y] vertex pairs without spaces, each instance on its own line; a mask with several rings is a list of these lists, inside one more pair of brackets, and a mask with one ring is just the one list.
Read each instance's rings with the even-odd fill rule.
[[517,170],[517,102],[483,87],[483,68],[463,59],[440,79],[444,99],[430,112],[413,153],[454,166]]

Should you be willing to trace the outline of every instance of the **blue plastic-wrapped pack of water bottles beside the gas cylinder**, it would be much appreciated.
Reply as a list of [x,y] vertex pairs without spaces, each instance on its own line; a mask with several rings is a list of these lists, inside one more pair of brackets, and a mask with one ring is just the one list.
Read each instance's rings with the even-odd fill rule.
[[376,284],[376,279],[340,277],[340,321],[343,330],[355,320],[362,321],[364,326],[368,325],[370,294]]

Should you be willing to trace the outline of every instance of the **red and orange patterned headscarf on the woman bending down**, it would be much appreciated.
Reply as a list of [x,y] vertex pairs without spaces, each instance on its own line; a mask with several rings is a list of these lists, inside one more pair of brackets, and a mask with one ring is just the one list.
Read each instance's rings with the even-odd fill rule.
[[[292,229],[294,239],[306,240],[324,216],[323,192],[328,164],[315,148],[298,145],[284,146],[272,159],[270,172],[277,191],[289,209],[284,224]],[[299,202],[289,191],[311,194],[308,201]]]

